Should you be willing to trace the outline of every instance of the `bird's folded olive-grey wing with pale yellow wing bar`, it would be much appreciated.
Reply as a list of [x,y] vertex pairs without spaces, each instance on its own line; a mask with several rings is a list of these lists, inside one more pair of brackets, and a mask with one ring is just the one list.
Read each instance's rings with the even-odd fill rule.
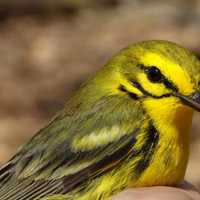
[[[112,106],[103,110],[105,103]],[[131,111],[123,113],[127,102],[120,103],[103,99],[81,116],[58,115],[0,169],[0,200],[67,193],[134,154],[138,129],[134,118],[124,124]]]

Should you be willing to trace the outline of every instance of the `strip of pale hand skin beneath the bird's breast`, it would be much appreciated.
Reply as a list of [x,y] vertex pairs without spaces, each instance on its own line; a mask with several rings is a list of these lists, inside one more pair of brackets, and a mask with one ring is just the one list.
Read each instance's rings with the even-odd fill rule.
[[180,187],[146,187],[129,189],[121,192],[112,200],[200,200],[199,191],[190,183],[184,182]]

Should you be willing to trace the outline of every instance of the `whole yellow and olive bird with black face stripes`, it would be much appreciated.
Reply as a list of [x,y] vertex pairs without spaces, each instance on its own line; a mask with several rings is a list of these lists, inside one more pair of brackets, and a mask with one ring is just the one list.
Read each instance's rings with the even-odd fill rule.
[[200,62],[167,41],[114,56],[0,168],[0,200],[109,200],[179,184],[200,111]]

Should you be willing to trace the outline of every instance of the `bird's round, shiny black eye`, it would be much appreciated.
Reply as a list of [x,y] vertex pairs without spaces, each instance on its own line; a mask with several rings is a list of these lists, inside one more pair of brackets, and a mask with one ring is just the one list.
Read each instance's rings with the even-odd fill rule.
[[162,81],[163,76],[157,67],[148,67],[145,69],[145,72],[147,73],[147,77],[151,82],[156,83]]

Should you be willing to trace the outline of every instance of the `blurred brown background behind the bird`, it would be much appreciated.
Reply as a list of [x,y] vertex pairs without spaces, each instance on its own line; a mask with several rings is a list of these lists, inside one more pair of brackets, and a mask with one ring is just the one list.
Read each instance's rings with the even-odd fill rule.
[[[200,0],[0,0],[0,164],[120,48],[165,39],[200,51]],[[200,115],[187,179],[200,188]]]

